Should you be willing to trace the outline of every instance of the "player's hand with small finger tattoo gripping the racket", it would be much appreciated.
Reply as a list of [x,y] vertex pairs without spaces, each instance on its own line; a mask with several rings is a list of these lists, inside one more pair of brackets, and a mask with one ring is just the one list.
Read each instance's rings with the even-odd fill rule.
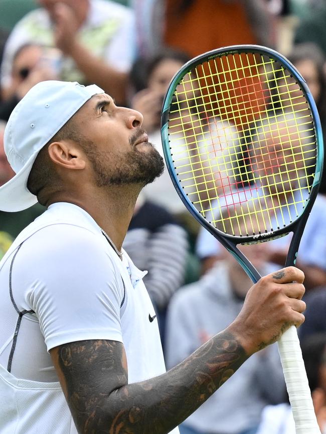
[[287,267],[249,289],[240,314],[228,327],[248,355],[276,342],[291,325],[303,323],[303,279],[301,270]]

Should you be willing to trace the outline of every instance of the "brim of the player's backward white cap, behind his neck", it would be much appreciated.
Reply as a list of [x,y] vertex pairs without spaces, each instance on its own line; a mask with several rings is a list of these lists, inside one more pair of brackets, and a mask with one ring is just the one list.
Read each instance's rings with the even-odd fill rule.
[[0,210],[23,211],[37,203],[37,197],[27,189],[27,180],[37,153],[31,156],[25,166],[6,184],[0,187]]

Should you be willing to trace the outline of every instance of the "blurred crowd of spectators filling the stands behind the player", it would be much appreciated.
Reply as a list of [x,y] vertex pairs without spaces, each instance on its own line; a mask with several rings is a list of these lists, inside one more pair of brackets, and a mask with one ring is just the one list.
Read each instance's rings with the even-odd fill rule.
[[[22,17],[26,3],[30,12]],[[287,56],[308,84],[326,133],[324,0],[10,0],[0,4],[0,17],[0,185],[14,175],[4,152],[6,122],[36,83],[59,79],[97,84],[117,105],[142,113],[150,142],[162,154],[160,111],[172,77],[194,56],[229,45],[258,44]],[[308,306],[298,331],[323,434],[325,195],[326,173],[297,262],[306,275]],[[17,213],[0,211],[0,257],[43,211],[41,205]],[[287,246],[284,237],[242,248],[264,273],[271,264],[284,264]],[[138,268],[148,270],[144,281],[168,368],[232,322],[251,286],[234,258],[190,217],[167,171],[143,189],[123,247]],[[186,419],[180,432],[294,434],[277,346],[247,360]]]

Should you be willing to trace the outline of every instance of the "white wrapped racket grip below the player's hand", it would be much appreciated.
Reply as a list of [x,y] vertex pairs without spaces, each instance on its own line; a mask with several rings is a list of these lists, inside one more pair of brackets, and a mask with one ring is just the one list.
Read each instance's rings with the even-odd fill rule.
[[283,373],[296,434],[320,434],[313,409],[296,327],[292,325],[278,340]]

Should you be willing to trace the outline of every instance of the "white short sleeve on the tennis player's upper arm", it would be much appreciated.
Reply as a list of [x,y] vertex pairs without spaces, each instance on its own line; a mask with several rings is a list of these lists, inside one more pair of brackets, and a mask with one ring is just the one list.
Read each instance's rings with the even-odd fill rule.
[[48,350],[87,339],[122,342],[124,287],[108,250],[100,234],[68,224],[43,228],[23,243],[15,267]]

